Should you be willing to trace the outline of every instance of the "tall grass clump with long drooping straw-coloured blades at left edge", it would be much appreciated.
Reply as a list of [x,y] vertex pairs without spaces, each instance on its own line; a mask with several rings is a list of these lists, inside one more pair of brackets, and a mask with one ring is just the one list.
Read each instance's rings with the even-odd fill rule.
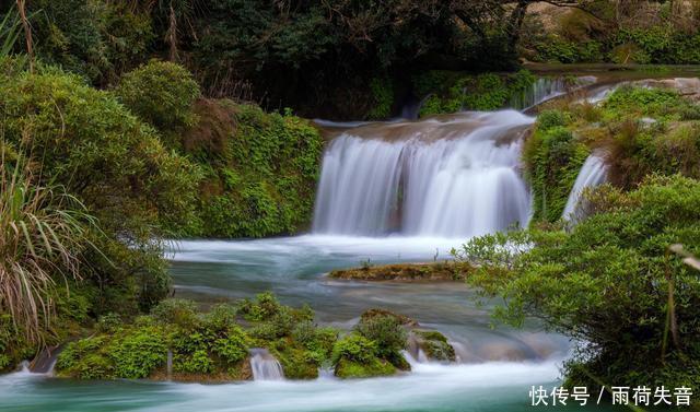
[[21,155],[3,142],[0,148],[0,313],[40,344],[54,317],[52,292],[81,279],[81,255],[96,221],[62,186],[38,185]]

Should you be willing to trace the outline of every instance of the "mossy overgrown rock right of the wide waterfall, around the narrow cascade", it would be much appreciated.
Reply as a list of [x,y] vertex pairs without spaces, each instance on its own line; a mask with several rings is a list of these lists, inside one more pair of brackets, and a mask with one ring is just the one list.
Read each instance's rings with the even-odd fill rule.
[[674,90],[625,86],[602,105],[556,102],[540,113],[524,163],[534,195],[534,220],[556,222],[591,151],[625,189],[652,173],[700,178],[700,105]]

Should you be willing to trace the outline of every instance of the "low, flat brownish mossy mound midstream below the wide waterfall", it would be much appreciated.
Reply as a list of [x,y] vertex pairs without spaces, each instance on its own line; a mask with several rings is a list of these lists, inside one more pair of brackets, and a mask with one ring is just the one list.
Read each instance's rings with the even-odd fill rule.
[[329,276],[360,281],[453,282],[464,280],[468,269],[465,263],[457,266],[454,262],[397,263],[334,270]]

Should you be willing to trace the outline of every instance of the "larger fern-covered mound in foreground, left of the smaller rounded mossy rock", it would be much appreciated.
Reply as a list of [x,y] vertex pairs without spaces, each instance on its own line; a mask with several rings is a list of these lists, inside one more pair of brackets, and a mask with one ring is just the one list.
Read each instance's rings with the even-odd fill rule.
[[288,378],[315,378],[337,332],[312,319],[308,308],[283,306],[267,293],[207,313],[168,299],[129,323],[102,319],[92,337],[66,345],[56,372],[79,379],[245,380],[252,378],[249,349],[268,348]]

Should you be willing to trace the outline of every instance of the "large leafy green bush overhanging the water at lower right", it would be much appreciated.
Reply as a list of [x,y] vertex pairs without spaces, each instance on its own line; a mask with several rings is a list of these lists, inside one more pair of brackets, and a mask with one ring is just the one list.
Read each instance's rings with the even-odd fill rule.
[[[700,184],[655,176],[631,192],[604,186],[588,203],[588,217],[571,232],[471,240],[465,257],[489,264],[468,282],[505,299],[494,311],[498,319],[522,326],[525,317],[537,317],[587,342],[567,366],[570,385],[697,385],[700,283],[667,248],[680,243],[697,254]],[[500,259],[499,250],[513,245],[522,252]],[[678,345],[664,343],[672,281]]]

